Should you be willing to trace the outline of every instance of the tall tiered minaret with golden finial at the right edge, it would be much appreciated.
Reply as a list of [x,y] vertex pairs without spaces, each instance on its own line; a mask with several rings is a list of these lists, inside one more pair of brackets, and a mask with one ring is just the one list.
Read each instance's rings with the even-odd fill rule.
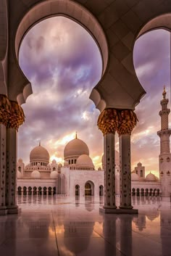
[[170,134],[171,129],[169,127],[169,114],[170,109],[167,108],[169,99],[166,99],[165,86],[163,90],[163,99],[160,104],[162,110],[159,115],[161,117],[161,130],[157,132],[160,138],[160,154],[159,154],[159,180],[162,186],[162,196],[170,197],[171,192],[171,154],[170,154]]

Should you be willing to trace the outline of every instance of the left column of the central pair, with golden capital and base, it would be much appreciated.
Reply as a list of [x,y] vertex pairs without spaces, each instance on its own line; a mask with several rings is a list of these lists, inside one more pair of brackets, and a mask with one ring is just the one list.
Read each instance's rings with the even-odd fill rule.
[[117,111],[107,109],[101,112],[97,122],[104,135],[104,207],[101,212],[116,212],[115,204],[115,145],[117,129]]

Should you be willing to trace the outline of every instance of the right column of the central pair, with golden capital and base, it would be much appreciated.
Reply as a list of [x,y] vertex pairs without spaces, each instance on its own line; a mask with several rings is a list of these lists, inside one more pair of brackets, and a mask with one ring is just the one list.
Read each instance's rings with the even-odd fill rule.
[[133,110],[118,111],[119,124],[117,133],[120,143],[120,211],[138,213],[131,205],[131,162],[130,162],[130,135],[137,123]]

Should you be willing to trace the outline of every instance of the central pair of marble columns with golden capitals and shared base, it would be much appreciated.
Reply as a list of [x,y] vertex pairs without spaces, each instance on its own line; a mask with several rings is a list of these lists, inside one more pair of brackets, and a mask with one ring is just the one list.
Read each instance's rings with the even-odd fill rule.
[[[104,135],[104,207],[106,213],[138,213],[131,205],[130,135],[137,123],[133,110],[106,109],[98,126]],[[120,206],[115,202],[115,133],[120,143]]]

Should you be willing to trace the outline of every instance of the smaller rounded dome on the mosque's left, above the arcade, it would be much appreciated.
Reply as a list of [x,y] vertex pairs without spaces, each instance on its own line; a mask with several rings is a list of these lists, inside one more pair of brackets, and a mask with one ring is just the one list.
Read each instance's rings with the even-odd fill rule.
[[46,161],[49,162],[49,152],[41,145],[36,146],[30,152],[30,162]]

